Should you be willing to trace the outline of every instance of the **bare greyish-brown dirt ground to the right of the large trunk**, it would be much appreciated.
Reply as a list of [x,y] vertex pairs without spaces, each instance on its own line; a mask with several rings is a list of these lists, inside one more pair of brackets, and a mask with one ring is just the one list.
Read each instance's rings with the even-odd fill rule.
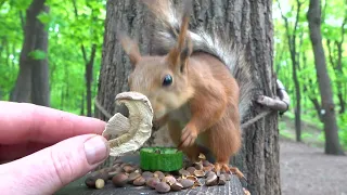
[[[281,120],[286,123],[286,133],[294,134],[293,120]],[[311,127],[310,130],[312,129]],[[316,131],[319,133],[321,130]],[[281,136],[283,195],[347,195],[347,156],[325,155],[322,146],[310,142],[298,143]]]

